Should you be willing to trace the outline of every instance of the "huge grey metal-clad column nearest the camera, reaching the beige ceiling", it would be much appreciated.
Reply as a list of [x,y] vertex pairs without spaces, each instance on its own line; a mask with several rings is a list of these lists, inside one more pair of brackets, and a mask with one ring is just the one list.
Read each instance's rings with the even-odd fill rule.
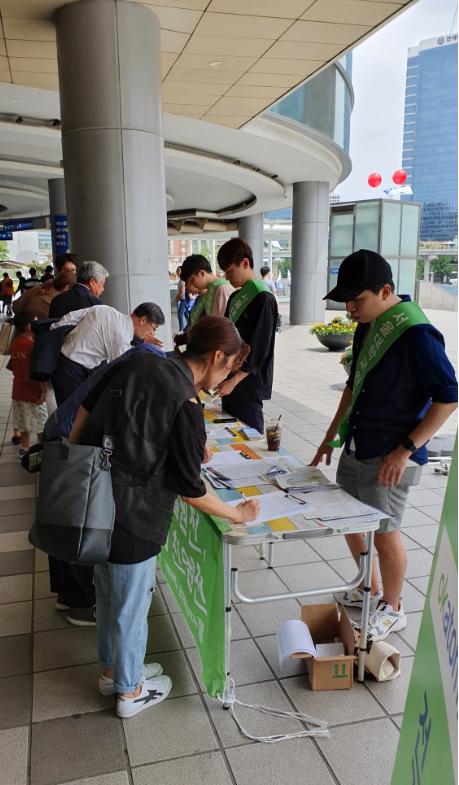
[[152,300],[170,341],[160,25],[145,6],[80,0],[56,14],[72,250],[110,272],[104,302]]

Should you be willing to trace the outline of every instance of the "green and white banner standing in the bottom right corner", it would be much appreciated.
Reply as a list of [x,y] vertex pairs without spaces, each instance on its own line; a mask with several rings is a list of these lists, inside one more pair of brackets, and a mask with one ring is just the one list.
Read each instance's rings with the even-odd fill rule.
[[392,785],[457,785],[457,439]]

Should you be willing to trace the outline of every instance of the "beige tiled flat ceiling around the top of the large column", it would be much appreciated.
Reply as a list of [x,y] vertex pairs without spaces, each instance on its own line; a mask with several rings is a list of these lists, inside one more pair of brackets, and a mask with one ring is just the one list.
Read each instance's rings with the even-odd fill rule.
[[[0,82],[58,89],[53,15],[68,2],[0,0]],[[143,2],[161,23],[164,111],[240,128],[412,2]]]

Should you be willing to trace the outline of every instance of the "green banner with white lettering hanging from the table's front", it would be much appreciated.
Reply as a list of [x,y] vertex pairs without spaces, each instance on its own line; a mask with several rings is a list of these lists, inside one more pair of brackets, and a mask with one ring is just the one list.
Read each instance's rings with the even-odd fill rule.
[[177,499],[159,566],[190,628],[213,698],[223,694],[225,602],[222,533],[227,524]]

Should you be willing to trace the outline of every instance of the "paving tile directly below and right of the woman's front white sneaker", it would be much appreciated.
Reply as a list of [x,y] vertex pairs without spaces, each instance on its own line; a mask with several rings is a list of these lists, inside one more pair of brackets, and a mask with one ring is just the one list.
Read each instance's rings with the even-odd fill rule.
[[123,724],[131,766],[213,751],[218,746],[197,695],[168,698]]

